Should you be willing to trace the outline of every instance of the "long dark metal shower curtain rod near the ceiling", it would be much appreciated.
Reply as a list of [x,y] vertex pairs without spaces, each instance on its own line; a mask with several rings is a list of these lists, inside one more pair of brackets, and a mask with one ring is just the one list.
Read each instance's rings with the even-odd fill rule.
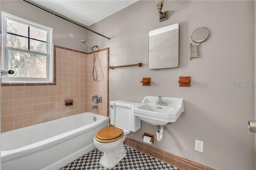
[[43,11],[45,11],[45,12],[48,12],[48,13],[50,13],[50,14],[52,14],[52,15],[58,17],[58,18],[61,18],[61,19],[66,20],[66,21],[68,21],[68,22],[70,22],[70,23],[73,23],[73,24],[75,24],[75,25],[78,25],[79,27],[82,27],[82,28],[84,28],[84,29],[87,29],[88,31],[91,31],[91,32],[93,32],[93,33],[96,33],[96,34],[98,34],[98,35],[100,35],[100,36],[102,36],[102,37],[104,37],[104,38],[106,38],[106,39],[110,39],[109,37],[106,37],[105,35],[102,35],[102,34],[100,34],[100,33],[97,33],[96,31],[93,31],[92,29],[87,28],[86,25],[84,25],[84,24],[82,24],[82,23],[80,23],[80,22],[77,22],[77,21],[75,21],[75,20],[72,20],[72,19],[70,19],[70,18],[68,18],[68,17],[66,17],[66,16],[63,16],[62,14],[56,13],[56,12],[54,12],[54,11],[48,9],[48,8],[45,8],[44,6],[41,6],[41,5],[39,5],[39,4],[36,4],[36,3],[34,3],[34,2],[32,2],[32,1],[30,1],[30,0],[22,0],[22,1],[28,3],[28,4],[32,5],[32,6],[35,6],[36,8],[39,8],[40,10],[43,10]]

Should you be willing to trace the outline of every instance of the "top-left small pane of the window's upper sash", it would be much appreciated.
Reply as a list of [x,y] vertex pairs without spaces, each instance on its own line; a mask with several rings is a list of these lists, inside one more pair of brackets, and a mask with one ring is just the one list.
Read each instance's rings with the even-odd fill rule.
[[7,19],[7,32],[28,37],[28,25]]

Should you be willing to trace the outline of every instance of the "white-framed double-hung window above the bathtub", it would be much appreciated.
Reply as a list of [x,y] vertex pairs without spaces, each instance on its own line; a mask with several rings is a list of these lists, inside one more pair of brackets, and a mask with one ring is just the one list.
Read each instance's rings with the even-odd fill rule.
[[52,28],[2,12],[2,82],[52,82]]

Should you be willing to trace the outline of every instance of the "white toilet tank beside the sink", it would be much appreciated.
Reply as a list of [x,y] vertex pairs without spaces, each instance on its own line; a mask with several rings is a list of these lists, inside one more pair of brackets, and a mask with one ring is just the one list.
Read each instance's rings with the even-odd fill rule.
[[115,100],[110,102],[110,124],[136,132],[140,129],[140,118],[132,114],[132,107],[139,103]]

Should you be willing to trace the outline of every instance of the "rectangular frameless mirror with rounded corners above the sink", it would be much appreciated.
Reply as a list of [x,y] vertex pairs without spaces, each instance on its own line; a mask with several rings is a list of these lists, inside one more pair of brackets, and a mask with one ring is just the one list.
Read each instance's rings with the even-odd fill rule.
[[148,68],[175,68],[179,65],[179,24],[148,32]]

